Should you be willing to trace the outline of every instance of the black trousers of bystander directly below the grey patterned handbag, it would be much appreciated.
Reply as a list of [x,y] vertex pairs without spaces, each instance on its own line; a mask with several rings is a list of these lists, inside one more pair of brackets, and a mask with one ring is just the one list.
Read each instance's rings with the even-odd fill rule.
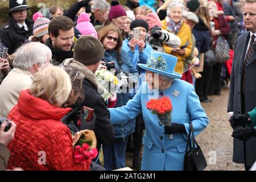
[[209,95],[221,92],[221,63],[213,66],[212,80],[210,81]]

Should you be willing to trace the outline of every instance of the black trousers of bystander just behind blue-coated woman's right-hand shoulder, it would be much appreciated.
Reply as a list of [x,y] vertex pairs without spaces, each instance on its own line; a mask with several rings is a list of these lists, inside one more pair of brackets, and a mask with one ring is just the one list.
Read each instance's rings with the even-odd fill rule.
[[196,79],[195,89],[196,94],[199,96],[200,100],[207,98],[207,94],[210,88],[210,81],[212,80],[213,67],[204,67],[201,78]]

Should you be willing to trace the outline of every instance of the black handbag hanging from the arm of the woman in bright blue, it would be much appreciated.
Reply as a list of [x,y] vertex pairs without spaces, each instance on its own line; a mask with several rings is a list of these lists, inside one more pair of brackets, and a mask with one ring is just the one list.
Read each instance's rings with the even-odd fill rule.
[[[189,150],[188,146],[190,148]],[[207,162],[204,158],[203,151],[195,140],[192,122],[189,122],[188,141],[184,156],[184,171],[203,171],[206,167]]]

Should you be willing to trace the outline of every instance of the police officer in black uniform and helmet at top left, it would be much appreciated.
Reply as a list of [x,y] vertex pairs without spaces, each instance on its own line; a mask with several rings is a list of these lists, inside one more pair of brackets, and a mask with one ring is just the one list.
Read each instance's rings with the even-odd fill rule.
[[27,19],[27,9],[29,8],[26,0],[9,1],[11,20],[0,32],[0,40],[5,47],[9,48],[9,55],[14,53],[33,34],[34,22]]

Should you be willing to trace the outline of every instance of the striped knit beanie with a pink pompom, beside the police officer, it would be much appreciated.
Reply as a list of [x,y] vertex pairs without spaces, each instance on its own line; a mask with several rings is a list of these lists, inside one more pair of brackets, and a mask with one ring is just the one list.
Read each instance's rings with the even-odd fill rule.
[[34,20],[34,28],[33,28],[33,34],[37,38],[40,36],[43,36],[44,34],[48,34],[48,26],[50,20],[43,17],[43,14],[38,12],[33,15]]

